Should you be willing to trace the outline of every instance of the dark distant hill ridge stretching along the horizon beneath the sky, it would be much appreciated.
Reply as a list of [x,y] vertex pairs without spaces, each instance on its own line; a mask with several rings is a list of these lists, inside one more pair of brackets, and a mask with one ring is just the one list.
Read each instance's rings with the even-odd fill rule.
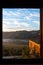
[[40,30],[38,31],[16,31],[16,32],[3,32],[3,39],[31,39],[39,42]]

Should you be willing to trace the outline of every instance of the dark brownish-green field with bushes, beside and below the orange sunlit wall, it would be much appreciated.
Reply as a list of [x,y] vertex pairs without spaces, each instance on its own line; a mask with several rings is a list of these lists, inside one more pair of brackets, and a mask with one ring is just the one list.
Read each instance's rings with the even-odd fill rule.
[[34,51],[30,54],[30,48],[28,45],[17,45],[16,43],[3,43],[3,57],[12,57],[16,59],[31,59],[31,58],[40,58]]

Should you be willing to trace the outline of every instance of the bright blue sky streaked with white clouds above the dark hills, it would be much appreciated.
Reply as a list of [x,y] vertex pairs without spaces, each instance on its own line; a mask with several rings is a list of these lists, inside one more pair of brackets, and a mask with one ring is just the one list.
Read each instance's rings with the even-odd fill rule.
[[40,30],[40,9],[3,8],[2,31]]

